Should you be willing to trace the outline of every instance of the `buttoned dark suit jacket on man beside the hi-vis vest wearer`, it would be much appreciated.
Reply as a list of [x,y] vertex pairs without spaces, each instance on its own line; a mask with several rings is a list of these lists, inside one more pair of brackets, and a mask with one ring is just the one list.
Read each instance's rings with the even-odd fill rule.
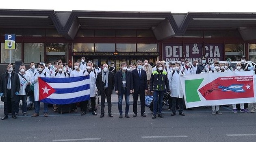
[[148,90],[147,73],[141,69],[141,77],[139,77],[138,70],[132,71],[133,89],[135,92]]

